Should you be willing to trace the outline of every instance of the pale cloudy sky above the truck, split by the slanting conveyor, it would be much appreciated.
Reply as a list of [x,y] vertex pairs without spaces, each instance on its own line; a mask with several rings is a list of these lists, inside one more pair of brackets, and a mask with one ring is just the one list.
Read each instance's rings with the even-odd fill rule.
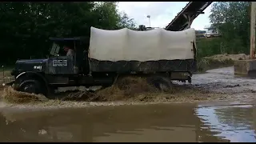
[[[151,27],[166,27],[174,17],[186,6],[188,2],[119,2],[118,10],[125,12],[138,25]],[[205,14],[199,14],[192,22],[191,28],[204,30],[210,24],[211,5],[204,10]],[[150,15],[149,18],[146,18]]]

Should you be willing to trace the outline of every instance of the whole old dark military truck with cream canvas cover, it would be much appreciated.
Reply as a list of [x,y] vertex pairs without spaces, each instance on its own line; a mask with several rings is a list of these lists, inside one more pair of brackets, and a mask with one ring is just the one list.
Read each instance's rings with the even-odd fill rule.
[[[191,82],[196,70],[195,30],[147,31],[90,29],[90,46],[82,38],[50,38],[50,56],[18,60],[11,74],[15,90],[51,94],[58,87],[111,86],[120,76],[138,75],[155,86],[171,80]],[[66,56],[69,46],[74,56]],[[182,77],[173,77],[173,75]]]

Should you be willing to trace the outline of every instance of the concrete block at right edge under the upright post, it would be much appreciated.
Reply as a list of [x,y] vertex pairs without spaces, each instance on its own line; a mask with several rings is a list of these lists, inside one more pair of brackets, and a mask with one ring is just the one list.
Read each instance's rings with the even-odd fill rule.
[[234,74],[256,77],[256,59],[234,61]]

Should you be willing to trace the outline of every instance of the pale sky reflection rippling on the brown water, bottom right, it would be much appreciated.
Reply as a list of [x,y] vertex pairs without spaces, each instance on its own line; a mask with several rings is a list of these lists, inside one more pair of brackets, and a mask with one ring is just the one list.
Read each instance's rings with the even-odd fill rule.
[[201,129],[218,132],[215,136],[230,142],[256,142],[254,126],[254,107],[215,106],[198,108],[198,117],[202,119]]

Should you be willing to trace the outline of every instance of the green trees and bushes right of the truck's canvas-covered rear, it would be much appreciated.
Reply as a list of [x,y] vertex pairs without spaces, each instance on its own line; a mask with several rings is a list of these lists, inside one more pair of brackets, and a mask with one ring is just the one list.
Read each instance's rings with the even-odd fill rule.
[[198,56],[213,54],[249,54],[250,2],[214,2],[210,22],[222,38],[198,42]]

